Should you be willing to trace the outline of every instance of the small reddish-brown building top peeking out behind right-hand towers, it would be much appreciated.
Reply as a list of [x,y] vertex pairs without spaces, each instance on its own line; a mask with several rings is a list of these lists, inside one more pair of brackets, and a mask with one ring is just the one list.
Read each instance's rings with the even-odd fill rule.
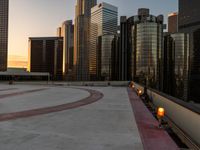
[[168,32],[177,33],[178,32],[178,13],[171,13],[168,15]]

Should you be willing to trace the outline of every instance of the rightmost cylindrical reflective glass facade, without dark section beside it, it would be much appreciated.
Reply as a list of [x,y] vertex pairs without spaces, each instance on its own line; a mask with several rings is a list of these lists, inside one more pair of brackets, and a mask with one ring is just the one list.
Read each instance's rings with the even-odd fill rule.
[[172,34],[171,37],[174,40],[174,96],[187,101],[189,71],[189,34],[176,33]]

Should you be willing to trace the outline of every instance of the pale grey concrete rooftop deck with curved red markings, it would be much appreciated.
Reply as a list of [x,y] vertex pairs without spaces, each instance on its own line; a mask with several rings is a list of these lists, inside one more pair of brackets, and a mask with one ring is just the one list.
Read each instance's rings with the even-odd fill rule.
[[133,107],[130,99],[136,95],[130,92],[126,87],[0,84],[0,149],[147,149],[149,136],[138,128],[138,104]]

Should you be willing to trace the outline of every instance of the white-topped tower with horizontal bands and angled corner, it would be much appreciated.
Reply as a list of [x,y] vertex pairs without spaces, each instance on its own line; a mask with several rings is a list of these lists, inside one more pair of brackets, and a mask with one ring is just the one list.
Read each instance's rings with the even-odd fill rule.
[[[100,56],[97,55],[98,52],[98,37],[102,36],[102,42],[105,42],[108,48],[108,43],[111,41],[108,36],[103,35],[116,35],[117,34],[117,17],[118,8],[107,3],[100,3],[91,9],[91,25],[90,25],[90,49],[89,49],[89,75],[90,80],[97,80],[98,72],[98,60],[100,56],[104,53],[104,50]],[[108,40],[108,43],[106,43]],[[112,44],[112,43],[110,43]],[[101,45],[104,45],[102,43]],[[111,46],[110,46],[111,48]],[[110,53],[111,50],[108,51]],[[99,52],[98,52],[99,53]],[[110,55],[111,57],[111,55]]]

